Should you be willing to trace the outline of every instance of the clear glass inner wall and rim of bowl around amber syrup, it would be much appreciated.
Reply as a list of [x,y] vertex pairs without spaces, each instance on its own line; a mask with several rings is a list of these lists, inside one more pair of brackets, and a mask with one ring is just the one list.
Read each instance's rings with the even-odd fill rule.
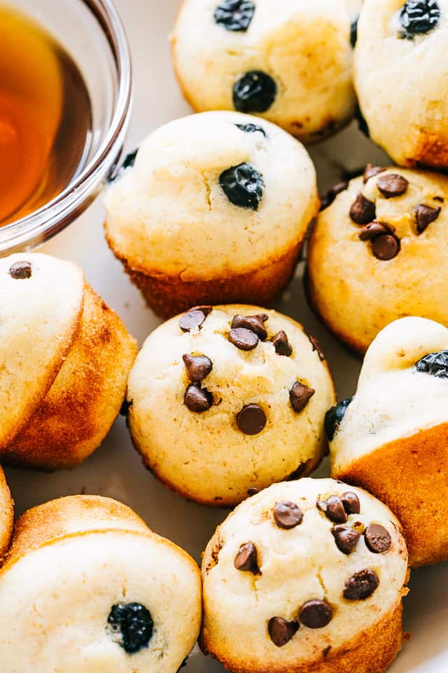
[[29,250],[62,231],[97,196],[120,159],[132,107],[125,30],[111,0],[3,0],[29,16],[71,55],[90,94],[92,127],[85,161],[55,198],[0,227],[0,256]]

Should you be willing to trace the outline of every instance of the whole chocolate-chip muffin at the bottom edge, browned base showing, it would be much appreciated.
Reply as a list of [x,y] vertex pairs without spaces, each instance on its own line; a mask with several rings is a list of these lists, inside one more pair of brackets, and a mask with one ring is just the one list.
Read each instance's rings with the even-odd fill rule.
[[246,500],[211,538],[202,578],[201,646],[233,673],[383,673],[400,651],[400,525],[342,482]]

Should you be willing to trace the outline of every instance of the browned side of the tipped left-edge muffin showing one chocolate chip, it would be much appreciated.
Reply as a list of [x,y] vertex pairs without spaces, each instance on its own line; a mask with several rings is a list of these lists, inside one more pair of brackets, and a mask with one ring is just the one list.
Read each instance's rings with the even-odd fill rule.
[[72,468],[99,447],[123,404],[137,344],[118,315],[85,284],[71,350],[34,416],[6,447],[6,465]]

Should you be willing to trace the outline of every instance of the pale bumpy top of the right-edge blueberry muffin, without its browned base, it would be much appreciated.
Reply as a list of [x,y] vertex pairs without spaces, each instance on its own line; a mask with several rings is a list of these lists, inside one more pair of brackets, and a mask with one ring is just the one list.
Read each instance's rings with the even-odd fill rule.
[[365,355],[353,400],[327,416],[335,472],[378,447],[448,422],[448,329],[402,318]]

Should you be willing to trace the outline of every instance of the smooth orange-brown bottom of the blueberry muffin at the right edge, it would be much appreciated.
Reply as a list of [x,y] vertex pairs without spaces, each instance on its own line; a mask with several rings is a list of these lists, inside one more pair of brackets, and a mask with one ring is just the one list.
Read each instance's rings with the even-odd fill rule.
[[412,568],[448,559],[448,423],[384,444],[332,477],[388,505],[402,524]]

